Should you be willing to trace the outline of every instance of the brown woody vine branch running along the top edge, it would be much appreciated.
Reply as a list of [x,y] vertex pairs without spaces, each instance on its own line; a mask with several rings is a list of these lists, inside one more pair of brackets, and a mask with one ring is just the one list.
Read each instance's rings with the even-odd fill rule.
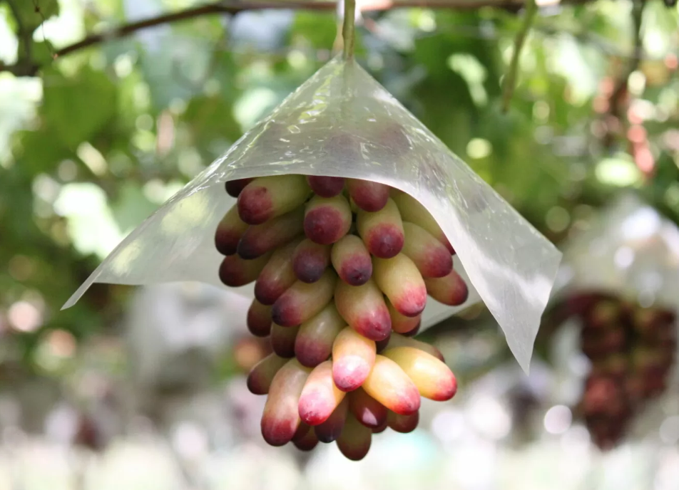
[[[12,9],[12,1],[23,0],[8,0],[10,9]],[[528,2],[535,2],[535,0],[527,0]],[[556,5],[556,4],[584,4],[593,0],[541,0],[541,5]],[[389,9],[401,8],[427,8],[427,9],[454,9],[454,10],[476,10],[482,7],[496,7],[498,9],[505,9],[516,11],[524,5],[524,0],[363,0],[360,4],[361,11],[382,11]],[[270,1],[217,1],[213,4],[201,5],[191,9],[185,9],[170,14],[163,14],[141,21],[131,22],[130,24],[123,24],[102,33],[95,33],[86,36],[81,41],[65,46],[53,53],[53,58],[60,58],[76,51],[95,46],[97,44],[112,41],[113,39],[123,38],[129,36],[137,31],[141,31],[153,26],[160,26],[163,24],[172,24],[180,21],[188,21],[202,16],[208,15],[235,15],[239,12],[252,10],[315,10],[315,11],[335,11],[337,3],[335,1],[288,1],[288,0],[270,0]],[[14,9],[13,9],[14,10]],[[16,12],[15,12],[16,13]],[[18,16],[17,21],[19,21]],[[21,26],[19,26],[19,33],[21,33]],[[41,66],[26,56],[19,56],[19,60],[12,65],[4,65],[0,63],[0,71],[9,71],[17,76],[34,76],[38,73]]]

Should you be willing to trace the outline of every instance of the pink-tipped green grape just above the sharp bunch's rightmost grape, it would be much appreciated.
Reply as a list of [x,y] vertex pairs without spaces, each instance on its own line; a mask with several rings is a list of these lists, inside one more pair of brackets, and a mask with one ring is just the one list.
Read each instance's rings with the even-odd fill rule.
[[403,231],[402,254],[414,262],[422,277],[444,277],[453,270],[450,251],[429,231],[409,221],[403,222]]

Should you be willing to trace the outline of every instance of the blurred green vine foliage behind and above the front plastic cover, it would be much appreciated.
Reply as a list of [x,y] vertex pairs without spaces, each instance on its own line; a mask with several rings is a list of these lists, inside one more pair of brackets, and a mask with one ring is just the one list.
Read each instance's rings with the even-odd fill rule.
[[[88,32],[194,3],[0,0],[0,60],[42,67],[0,72],[4,362],[34,363],[52,330],[80,339],[115,328],[121,286],[59,308],[125,234],[332,56],[335,13],[305,10],[202,16],[51,59]],[[500,84],[521,26],[514,11],[364,14],[357,56],[558,242],[620,189],[679,221],[679,11],[646,2],[639,56],[630,12],[614,0],[541,10],[508,114]]]

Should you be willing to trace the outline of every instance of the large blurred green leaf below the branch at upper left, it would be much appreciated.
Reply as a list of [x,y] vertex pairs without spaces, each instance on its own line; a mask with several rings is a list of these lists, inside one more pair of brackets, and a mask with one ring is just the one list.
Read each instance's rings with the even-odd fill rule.
[[83,68],[73,78],[50,71],[41,113],[67,147],[96,135],[116,114],[116,85],[105,73]]

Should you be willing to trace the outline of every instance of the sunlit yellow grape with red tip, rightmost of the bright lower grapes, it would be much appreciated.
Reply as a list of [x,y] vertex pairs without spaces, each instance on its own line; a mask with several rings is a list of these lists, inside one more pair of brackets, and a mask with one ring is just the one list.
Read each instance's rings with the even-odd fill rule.
[[412,347],[387,349],[382,355],[399,365],[423,397],[443,402],[455,396],[455,375],[433,355]]

